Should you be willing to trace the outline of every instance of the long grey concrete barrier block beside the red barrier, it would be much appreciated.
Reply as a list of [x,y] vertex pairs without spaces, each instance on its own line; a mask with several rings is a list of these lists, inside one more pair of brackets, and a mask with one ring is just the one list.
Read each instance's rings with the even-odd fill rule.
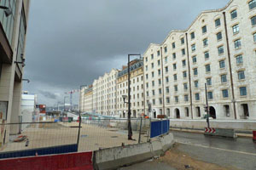
[[125,165],[146,161],[154,156],[164,154],[166,150],[172,147],[173,143],[173,135],[170,133],[153,142],[96,150],[93,157],[94,168],[96,170],[117,169]]

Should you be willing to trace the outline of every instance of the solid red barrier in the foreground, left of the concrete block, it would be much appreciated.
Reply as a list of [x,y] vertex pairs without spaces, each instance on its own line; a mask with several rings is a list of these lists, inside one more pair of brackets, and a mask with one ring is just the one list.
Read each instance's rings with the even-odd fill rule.
[[0,170],[93,170],[92,152],[0,160]]

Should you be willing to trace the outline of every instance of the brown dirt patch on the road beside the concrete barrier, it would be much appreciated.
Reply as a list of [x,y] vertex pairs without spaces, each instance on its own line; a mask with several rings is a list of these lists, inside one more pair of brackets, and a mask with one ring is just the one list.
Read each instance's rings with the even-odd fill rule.
[[236,170],[234,167],[219,167],[216,164],[195,160],[178,150],[177,146],[174,144],[173,148],[166,151],[166,155],[157,161],[165,162],[177,170]]

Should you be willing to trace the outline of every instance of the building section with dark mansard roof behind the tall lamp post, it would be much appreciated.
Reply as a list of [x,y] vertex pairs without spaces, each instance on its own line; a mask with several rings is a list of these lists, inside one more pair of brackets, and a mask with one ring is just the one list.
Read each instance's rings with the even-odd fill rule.
[[[144,113],[143,90],[143,59],[130,62],[131,81],[131,117],[140,117]],[[128,68],[123,66],[117,77],[117,109],[120,117],[128,116],[128,105],[124,103],[123,95],[128,102]]]

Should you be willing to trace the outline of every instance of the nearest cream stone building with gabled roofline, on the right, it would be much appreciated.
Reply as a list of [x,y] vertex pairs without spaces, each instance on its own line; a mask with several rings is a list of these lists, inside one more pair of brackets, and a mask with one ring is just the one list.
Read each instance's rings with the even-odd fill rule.
[[[146,101],[154,116],[256,119],[256,0],[203,11],[143,54]],[[148,108],[148,105],[147,105]]]

